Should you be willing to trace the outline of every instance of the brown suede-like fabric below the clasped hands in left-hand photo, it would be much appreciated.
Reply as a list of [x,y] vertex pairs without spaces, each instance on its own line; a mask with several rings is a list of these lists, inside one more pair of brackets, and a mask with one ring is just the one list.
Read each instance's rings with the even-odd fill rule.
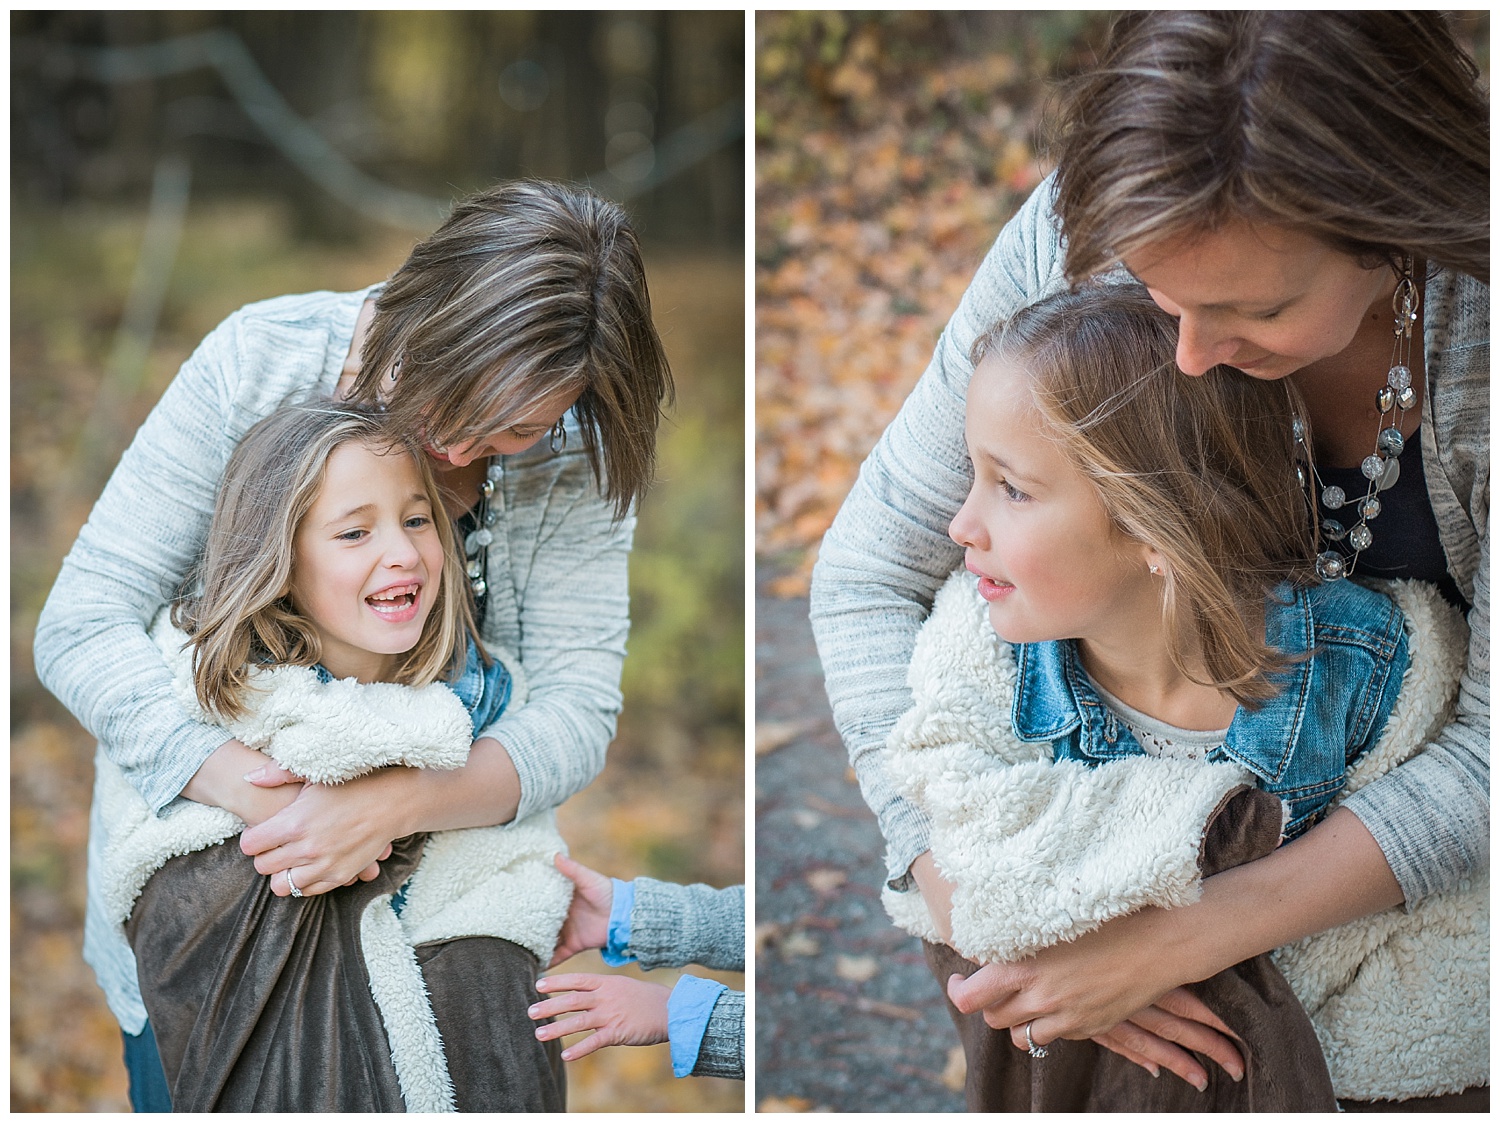
[[[374,882],[276,897],[238,840],[174,858],[126,925],[174,1111],[405,1111],[360,946],[364,906],[411,876],[398,840]],[[556,1042],[526,1008],[537,958],[506,940],[417,948],[460,1111],[562,1111]]]

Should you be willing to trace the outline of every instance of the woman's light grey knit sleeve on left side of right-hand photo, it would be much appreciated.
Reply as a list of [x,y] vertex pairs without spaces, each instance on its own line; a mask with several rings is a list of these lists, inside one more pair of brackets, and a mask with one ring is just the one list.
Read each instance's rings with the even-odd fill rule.
[[916,630],[962,555],[948,523],[972,480],[963,442],[969,349],[996,321],[1062,286],[1048,178],[990,249],[921,381],[860,469],[813,570],[812,624],[834,721],[897,882],[928,849],[930,823],[891,784],[880,748],[910,706]]

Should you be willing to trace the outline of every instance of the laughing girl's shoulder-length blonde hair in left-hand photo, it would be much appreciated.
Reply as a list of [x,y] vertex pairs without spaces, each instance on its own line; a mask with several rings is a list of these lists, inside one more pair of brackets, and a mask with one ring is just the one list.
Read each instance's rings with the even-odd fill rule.
[[464,670],[474,618],[453,526],[426,457],[398,441],[384,418],[346,403],[282,406],[258,421],[224,469],[194,591],[172,606],[192,637],[194,690],[204,711],[243,717],[258,666],[309,667],[322,657],[312,622],[291,603],[297,526],[316,502],[328,457],[357,441],[376,453],[411,456],[442,543],[442,573],[417,645],[393,682],[426,685]]

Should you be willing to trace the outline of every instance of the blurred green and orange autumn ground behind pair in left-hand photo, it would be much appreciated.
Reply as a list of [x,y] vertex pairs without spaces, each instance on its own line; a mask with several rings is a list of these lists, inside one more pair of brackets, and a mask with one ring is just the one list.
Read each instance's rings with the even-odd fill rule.
[[[123,208],[12,216],[14,1111],[128,1110],[118,1029],[81,958],[93,742],[32,667],[36,613],[57,567],[135,427],[219,319],[282,292],[368,285],[411,244],[370,232],[312,246],[273,207],[194,205],[144,382],[122,384],[100,408],[142,225],[140,210]],[[650,243],[646,267],[678,408],[636,535],[620,736],[604,774],[560,819],[574,856],[606,873],[730,885],[744,880],[746,829],[744,268],[730,255],[652,258]],[[570,966],[596,969],[597,955]],[[741,975],[714,978],[744,987]],[[674,1080],[666,1054],[614,1048],[573,1063],[570,1107],[740,1110],[742,1084]]]

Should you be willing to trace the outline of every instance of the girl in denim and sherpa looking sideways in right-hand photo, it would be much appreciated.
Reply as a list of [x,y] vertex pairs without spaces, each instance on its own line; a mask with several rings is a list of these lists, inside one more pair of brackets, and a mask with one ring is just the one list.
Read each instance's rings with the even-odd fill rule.
[[[1098,285],[975,348],[974,486],[951,526],[968,573],[938,595],[888,742],[951,900],[886,906],[952,996],[975,961],[1191,904],[1450,715],[1467,634],[1440,595],[1314,577],[1290,384],[1184,376],[1174,343],[1142,289]],[[1485,1063],[1462,1015],[1486,978],[1473,892],[1282,949],[1286,982],[1264,957],[1215,976],[1198,997],[1248,1054],[1224,1062],[1233,1083],[1154,1081],[1125,1039],[1101,1042],[1120,1060],[954,1008],[970,1107],[1334,1110],[1372,1068],[1466,1087]],[[1410,970],[1455,937],[1467,955]]]

